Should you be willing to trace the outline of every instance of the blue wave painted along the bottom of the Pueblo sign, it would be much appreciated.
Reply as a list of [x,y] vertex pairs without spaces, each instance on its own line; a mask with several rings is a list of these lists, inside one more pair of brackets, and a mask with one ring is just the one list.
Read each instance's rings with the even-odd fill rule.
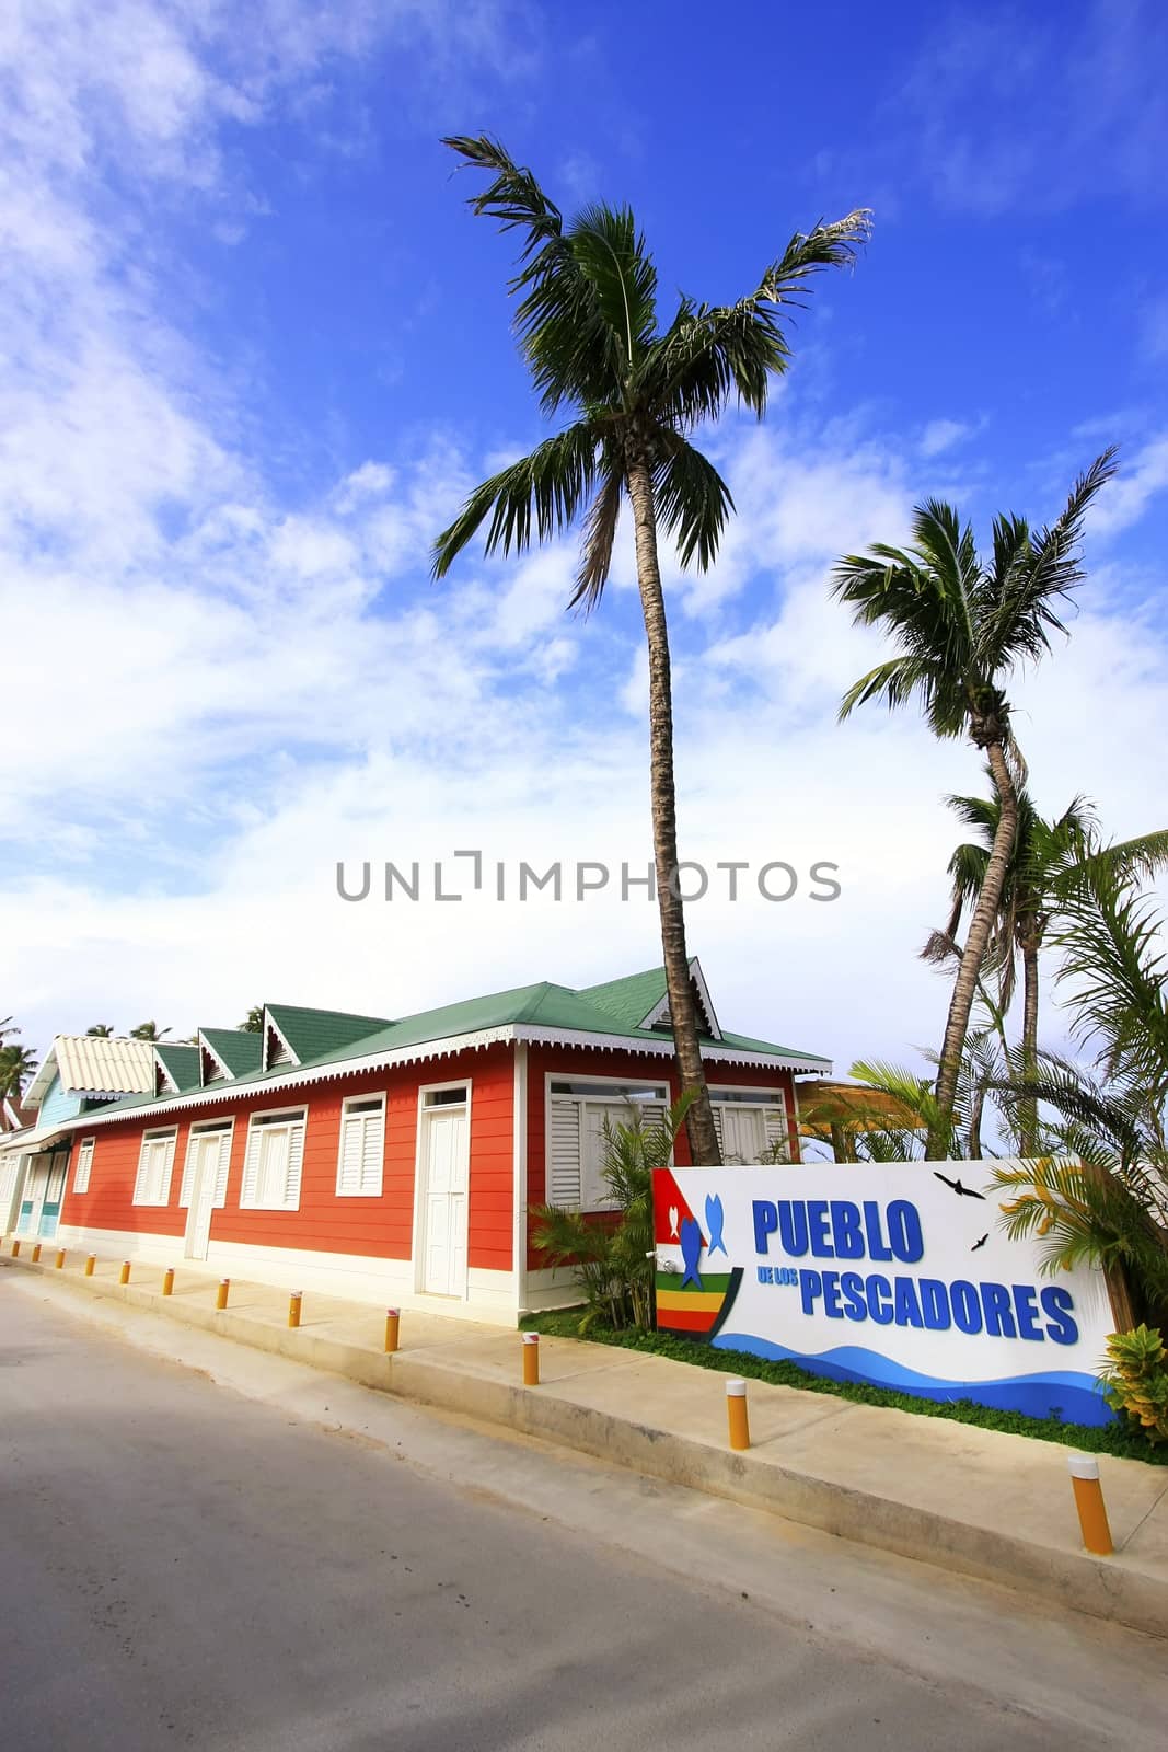
[[795,1363],[809,1375],[828,1381],[851,1381],[865,1388],[891,1388],[912,1393],[918,1400],[974,1400],[998,1412],[1023,1412],[1026,1417],[1059,1417],[1063,1423],[1101,1426],[1115,1421],[1115,1412],[1103,1398],[1094,1375],[1080,1370],[1054,1370],[1044,1375],[1010,1375],[1005,1381],[940,1381],[921,1375],[888,1356],[844,1344],[823,1356],[806,1356],[788,1351],[769,1339],[755,1339],[742,1332],[720,1332],[711,1340],[718,1351],[748,1351],[772,1363]]

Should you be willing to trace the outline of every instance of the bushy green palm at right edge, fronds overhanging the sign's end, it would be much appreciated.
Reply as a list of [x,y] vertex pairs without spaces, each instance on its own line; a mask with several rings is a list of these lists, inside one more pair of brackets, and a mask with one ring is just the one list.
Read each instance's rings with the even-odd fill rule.
[[1168,1000],[1163,922],[1136,876],[1087,860],[1059,904],[1056,986],[1089,1069],[1038,1053],[998,1100],[1040,1104],[1038,1162],[998,1170],[1012,1235],[1045,1240],[1045,1268],[1124,1267],[1142,1318],[1168,1316]]

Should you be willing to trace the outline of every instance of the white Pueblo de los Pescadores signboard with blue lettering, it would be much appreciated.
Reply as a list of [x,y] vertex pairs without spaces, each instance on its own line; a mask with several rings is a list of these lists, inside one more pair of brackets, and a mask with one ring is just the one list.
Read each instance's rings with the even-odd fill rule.
[[1103,1274],[1045,1277],[984,1162],[658,1169],[657,1325],[816,1375],[1103,1424]]

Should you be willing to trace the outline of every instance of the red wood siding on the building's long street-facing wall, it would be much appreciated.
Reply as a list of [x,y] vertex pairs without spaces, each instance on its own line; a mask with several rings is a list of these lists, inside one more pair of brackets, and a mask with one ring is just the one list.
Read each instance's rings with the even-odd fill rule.
[[[168,1205],[133,1204],[142,1134],[166,1125],[165,1116],[154,1114],[149,1120],[128,1120],[124,1125],[95,1127],[89,1191],[81,1197],[74,1193],[72,1186],[79,1139],[88,1134],[75,1134],[61,1221],[74,1228],[182,1235],[187,1212],[179,1205],[179,1188],[191,1123],[235,1116],[228,1202],[222,1211],[212,1214],[212,1240],[408,1260],[413,1240],[419,1086],[452,1083],[461,1077],[471,1084],[469,1265],[510,1270],[515,1091],[510,1046],[492,1046],[480,1053],[464,1053],[459,1058],[401,1065],[392,1070],[368,1072],[305,1088],[271,1088],[261,1097],[240,1102],[186,1107],[175,1114],[179,1139]],[[382,1091],[387,1095],[382,1197],[338,1198],[336,1158],[341,1104],[354,1095]],[[301,1106],[308,1109],[308,1121],[299,1209],[242,1211],[240,1188],[250,1114]]]

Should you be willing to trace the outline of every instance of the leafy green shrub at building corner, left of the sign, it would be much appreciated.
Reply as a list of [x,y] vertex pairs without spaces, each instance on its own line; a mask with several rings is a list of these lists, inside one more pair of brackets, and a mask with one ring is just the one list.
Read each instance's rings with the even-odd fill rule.
[[532,1246],[552,1265],[571,1265],[585,1298],[581,1337],[597,1321],[613,1328],[653,1326],[653,1169],[671,1160],[692,1104],[693,1095],[686,1090],[662,1121],[646,1125],[632,1102],[627,1123],[604,1120],[602,1177],[615,1218],[532,1205]]

